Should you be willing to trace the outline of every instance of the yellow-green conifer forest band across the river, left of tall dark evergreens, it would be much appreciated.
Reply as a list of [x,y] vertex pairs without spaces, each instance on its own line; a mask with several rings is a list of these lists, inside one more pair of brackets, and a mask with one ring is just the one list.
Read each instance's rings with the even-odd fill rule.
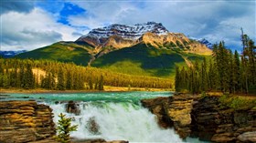
[[0,87],[103,90],[103,86],[171,88],[172,81],[56,61],[0,58]]

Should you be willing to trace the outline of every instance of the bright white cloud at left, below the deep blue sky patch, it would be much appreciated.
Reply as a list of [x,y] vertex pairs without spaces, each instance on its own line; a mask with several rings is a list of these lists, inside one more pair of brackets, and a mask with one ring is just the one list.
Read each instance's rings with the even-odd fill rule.
[[8,12],[1,15],[1,50],[35,49],[60,40],[76,40],[76,30],[55,21],[42,9],[30,13]]

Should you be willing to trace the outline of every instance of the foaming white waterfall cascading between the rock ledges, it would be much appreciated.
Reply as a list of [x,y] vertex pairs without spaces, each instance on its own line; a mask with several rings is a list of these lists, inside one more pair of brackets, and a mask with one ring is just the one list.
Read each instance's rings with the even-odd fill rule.
[[[55,123],[59,120],[58,115],[64,113],[73,118],[72,125],[79,125],[78,130],[73,132],[71,137],[130,142],[183,142],[174,129],[160,128],[155,115],[133,102],[96,101],[78,104],[80,115],[67,113],[65,104],[50,105]],[[93,129],[94,131],[91,131]]]

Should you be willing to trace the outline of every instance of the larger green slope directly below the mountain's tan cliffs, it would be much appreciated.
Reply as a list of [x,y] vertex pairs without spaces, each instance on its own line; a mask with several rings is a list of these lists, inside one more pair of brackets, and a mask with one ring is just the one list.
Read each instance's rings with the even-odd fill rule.
[[171,77],[175,65],[182,63],[185,63],[183,57],[174,50],[156,49],[141,44],[101,56],[91,66],[131,75]]

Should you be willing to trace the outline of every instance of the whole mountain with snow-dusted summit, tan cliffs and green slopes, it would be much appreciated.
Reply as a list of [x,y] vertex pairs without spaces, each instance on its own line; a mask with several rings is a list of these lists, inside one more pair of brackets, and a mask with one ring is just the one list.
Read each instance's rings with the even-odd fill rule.
[[74,42],[58,42],[20,54],[19,58],[52,59],[107,68],[125,74],[172,77],[175,65],[211,55],[211,50],[161,23],[114,24],[92,29]]

